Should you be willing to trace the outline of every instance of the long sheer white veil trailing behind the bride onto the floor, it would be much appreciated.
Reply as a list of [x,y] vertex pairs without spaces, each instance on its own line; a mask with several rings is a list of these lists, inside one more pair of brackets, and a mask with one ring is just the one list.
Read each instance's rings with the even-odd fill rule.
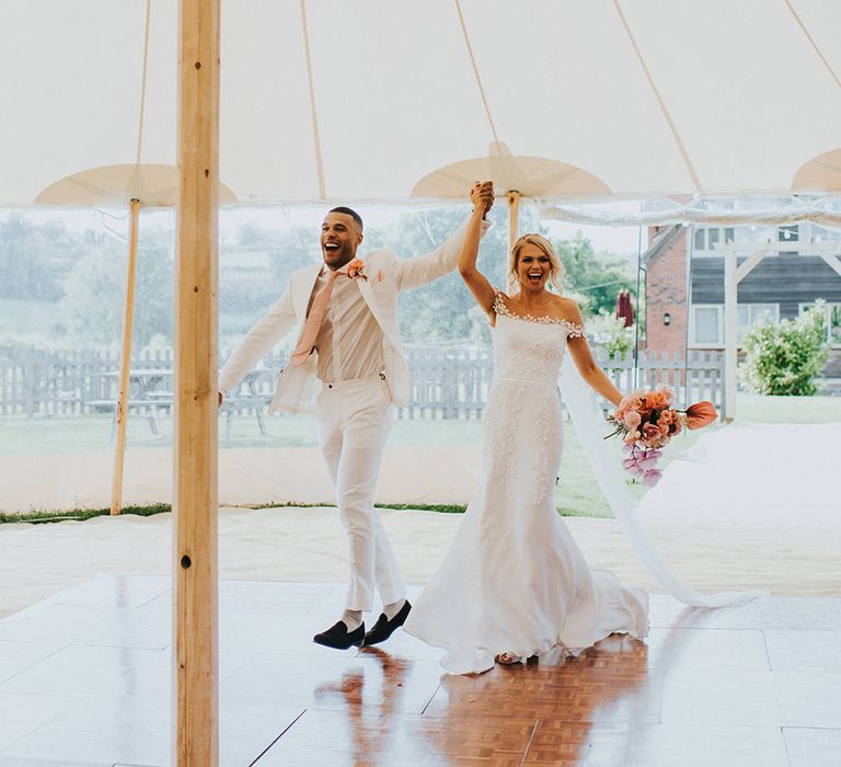
[[587,461],[601,492],[634,552],[660,585],[676,599],[694,607],[723,607],[767,596],[761,591],[701,594],[680,579],[665,562],[635,514],[636,497],[625,484],[625,476],[613,449],[604,442],[608,424],[596,394],[585,384],[567,354],[561,367],[561,397],[573,420]]

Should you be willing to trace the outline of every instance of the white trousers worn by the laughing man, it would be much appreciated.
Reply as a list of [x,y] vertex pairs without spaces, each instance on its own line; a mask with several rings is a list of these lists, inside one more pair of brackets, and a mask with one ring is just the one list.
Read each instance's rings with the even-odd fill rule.
[[406,589],[398,570],[373,493],[394,409],[379,376],[325,384],[315,404],[319,442],[336,491],[338,516],[347,531],[349,586],[346,607],[373,608],[375,588],[383,605]]

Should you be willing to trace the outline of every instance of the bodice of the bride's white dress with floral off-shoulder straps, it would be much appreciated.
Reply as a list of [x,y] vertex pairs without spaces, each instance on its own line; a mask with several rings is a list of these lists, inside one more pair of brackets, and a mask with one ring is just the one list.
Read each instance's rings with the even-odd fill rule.
[[494,300],[494,311],[496,378],[556,386],[566,340],[584,335],[584,329],[568,320],[515,314],[499,293]]

